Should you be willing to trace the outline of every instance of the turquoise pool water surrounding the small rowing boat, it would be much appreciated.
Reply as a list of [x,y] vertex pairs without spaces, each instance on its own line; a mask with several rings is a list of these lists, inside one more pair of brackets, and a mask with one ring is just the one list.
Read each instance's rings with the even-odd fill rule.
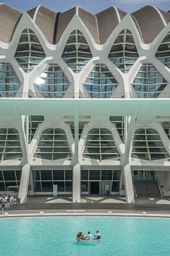
[[[76,234],[94,235],[102,243],[83,245]],[[170,219],[57,217],[0,219],[0,255],[5,256],[167,256]]]

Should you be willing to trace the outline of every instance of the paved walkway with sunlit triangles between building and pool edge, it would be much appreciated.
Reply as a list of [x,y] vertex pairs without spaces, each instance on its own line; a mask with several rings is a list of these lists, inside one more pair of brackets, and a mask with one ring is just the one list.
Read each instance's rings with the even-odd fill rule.
[[[5,210],[7,211],[7,210]],[[31,196],[28,202],[17,204],[8,210],[12,214],[80,213],[81,215],[109,214],[163,214],[170,215],[170,198],[136,198],[135,203],[126,203],[124,197],[84,196],[81,203],[72,203],[72,197],[54,199],[48,196]],[[1,211],[0,211],[1,213]]]

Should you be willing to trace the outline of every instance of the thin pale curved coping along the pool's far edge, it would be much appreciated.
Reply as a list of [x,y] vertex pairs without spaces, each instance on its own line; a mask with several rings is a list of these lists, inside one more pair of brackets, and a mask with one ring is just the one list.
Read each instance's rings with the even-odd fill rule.
[[152,218],[170,218],[170,214],[158,214],[158,213],[112,213],[111,211],[107,213],[79,213],[79,211],[74,211],[72,213],[18,213],[10,214],[5,213],[1,214],[0,218],[18,218],[18,217],[57,217],[57,216],[112,216],[112,217],[152,217]]

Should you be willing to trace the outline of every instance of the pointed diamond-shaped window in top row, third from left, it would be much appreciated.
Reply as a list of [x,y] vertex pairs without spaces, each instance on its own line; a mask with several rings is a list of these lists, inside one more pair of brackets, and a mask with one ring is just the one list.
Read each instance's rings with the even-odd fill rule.
[[128,73],[137,58],[139,58],[132,33],[128,29],[124,29],[118,34],[108,58],[123,73]]

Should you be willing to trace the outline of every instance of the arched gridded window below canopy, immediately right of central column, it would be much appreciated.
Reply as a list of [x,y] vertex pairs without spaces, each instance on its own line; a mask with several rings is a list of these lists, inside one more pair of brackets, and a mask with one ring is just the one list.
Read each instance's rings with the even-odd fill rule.
[[120,155],[108,129],[91,129],[86,139],[83,156],[102,161],[118,158]]

